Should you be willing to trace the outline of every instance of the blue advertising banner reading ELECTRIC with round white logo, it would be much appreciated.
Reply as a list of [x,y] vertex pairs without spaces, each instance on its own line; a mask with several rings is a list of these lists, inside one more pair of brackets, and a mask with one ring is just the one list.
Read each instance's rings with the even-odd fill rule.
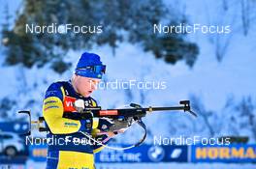
[[[125,147],[125,145],[121,145]],[[96,162],[187,162],[187,146],[142,145],[125,151],[103,150]]]

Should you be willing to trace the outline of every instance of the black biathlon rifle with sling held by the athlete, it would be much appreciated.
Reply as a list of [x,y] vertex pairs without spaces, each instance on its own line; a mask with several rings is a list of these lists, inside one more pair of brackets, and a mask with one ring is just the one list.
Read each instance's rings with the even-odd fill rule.
[[[140,127],[142,127],[144,129],[144,136],[138,143],[134,144],[131,147],[137,147],[144,142],[144,139],[146,137],[146,127],[144,125],[144,122],[142,121],[142,118],[148,114],[151,114],[153,112],[159,112],[159,111],[183,110],[184,112],[188,112],[194,117],[197,117],[197,114],[191,110],[189,100],[181,100],[179,101],[180,105],[170,106],[170,107],[149,106],[149,107],[143,108],[139,104],[131,103],[129,108],[105,109],[105,110],[102,109],[100,106],[85,107],[83,102],[78,101],[77,103],[78,104],[76,104],[76,101],[75,101],[74,106],[76,107],[78,112],[64,112],[63,118],[73,119],[73,120],[82,120],[82,119],[88,119],[88,118],[109,118],[115,122],[116,121],[129,122],[129,127],[134,123],[137,123]],[[30,135],[32,126],[33,128],[38,128],[39,131],[49,131],[48,127],[44,127],[44,123],[45,123],[44,117],[39,117],[38,121],[31,121],[30,111],[19,111],[18,113],[25,113],[29,116],[29,122],[30,122],[29,130],[27,133],[23,135]],[[114,133],[117,134],[117,131],[114,131]],[[85,133],[83,134],[85,135]],[[88,136],[88,135],[85,135],[85,136]]]

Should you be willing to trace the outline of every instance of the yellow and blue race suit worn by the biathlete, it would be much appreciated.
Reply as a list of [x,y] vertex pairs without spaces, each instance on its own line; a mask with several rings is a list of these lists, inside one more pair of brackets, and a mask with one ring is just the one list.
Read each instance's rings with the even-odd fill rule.
[[76,93],[70,81],[55,82],[48,87],[43,116],[50,130],[47,137],[57,141],[48,142],[47,169],[93,169],[93,154],[104,147],[86,140],[83,133],[110,140],[107,135],[95,136],[95,133],[108,131],[112,126],[106,119],[72,120],[63,117],[64,112],[76,113],[74,101],[77,99],[83,99],[87,107],[97,106],[94,99]]

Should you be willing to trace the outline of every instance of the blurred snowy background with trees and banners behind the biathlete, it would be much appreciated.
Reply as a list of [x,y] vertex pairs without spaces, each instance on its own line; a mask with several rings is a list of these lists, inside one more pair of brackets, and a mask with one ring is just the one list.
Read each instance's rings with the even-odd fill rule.
[[[180,112],[144,118],[148,136],[129,151],[96,155],[100,169],[254,168],[256,162],[256,1],[255,0],[0,0],[0,164],[39,169],[47,148],[23,146],[26,130],[18,110],[42,116],[48,86],[69,80],[80,55],[95,52],[107,65],[109,81],[165,82],[164,89],[101,89],[93,94],[103,108],[130,102],[176,105],[190,99],[195,119]],[[31,25],[89,25],[91,33],[26,33]],[[155,33],[153,25],[228,26],[229,33]],[[97,32],[97,26],[102,32]],[[169,30],[170,31],[170,30]],[[253,77],[254,76],[254,77]],[[33,135],[44,137],[36,130]],[[232,137],[229,157],[198,155],[201,145],[156,146],[159,137]],[[113,145],[142,136],[137,127]],[[13,143],[13,144],[10,144]],[[237,150],[237,153],[232,150]],[[0,166],[1,166],[0,165]]]

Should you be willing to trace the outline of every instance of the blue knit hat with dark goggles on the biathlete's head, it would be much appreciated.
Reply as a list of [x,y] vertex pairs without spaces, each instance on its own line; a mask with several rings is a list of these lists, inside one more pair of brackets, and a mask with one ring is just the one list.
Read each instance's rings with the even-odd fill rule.
[[106,66],[102,64],[99,55],[84,52],[80,56],[75,73],[83,77],[102,78]]

